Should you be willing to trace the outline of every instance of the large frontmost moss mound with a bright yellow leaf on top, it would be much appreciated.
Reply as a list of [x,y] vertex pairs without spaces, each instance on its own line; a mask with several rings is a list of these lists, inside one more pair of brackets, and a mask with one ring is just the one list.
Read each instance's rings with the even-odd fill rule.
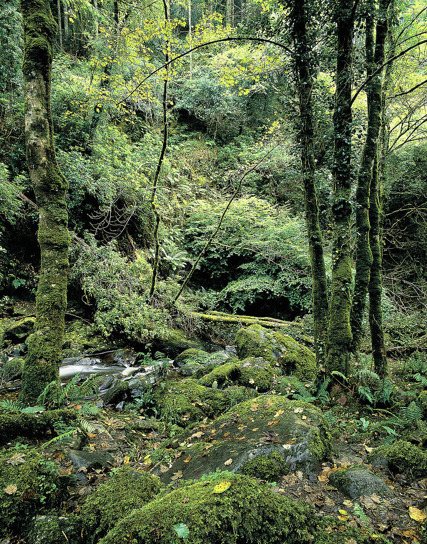
[[[218,493],[215,486],[222,482],[230,485]],[[308,544],[310,531],[317,529],[309,504],[274,493],[248,476],[221,473],[184,483],[130,512],[101,542],[181,544],[174,530],[181,523],[190,531],[188,544]]]

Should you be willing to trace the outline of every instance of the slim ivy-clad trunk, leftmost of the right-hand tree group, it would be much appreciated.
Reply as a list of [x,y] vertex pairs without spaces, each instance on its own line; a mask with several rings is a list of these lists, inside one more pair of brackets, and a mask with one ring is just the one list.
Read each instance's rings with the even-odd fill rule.
[[299,97],[300,158],[304,188],[305,222],[309,238],[313,279],[313,328],[316,362],[319,367],[325,363],[326,333],[328,332],[328,285],[326,282],[326,267],[315,184],[313,79],[305,0],[294,0],[291,3],[291,24]]

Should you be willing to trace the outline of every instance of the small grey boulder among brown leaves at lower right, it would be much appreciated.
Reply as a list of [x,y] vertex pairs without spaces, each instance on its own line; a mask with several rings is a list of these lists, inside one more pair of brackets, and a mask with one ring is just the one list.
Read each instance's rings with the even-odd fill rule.
[[341,491],[350,499],[357,499],[362,495],[378,495],[385,497],[391,494],[390,487],[387,486],[375,473],[367,469],[343,468],[334,471],[329,475],[329,481],[335,485],[338,491]]

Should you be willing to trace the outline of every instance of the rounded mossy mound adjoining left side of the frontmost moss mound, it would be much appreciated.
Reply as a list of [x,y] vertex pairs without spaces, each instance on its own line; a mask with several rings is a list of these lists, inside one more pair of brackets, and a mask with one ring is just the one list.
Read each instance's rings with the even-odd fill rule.
[[104,484],[86,499],[80,511],[86,542],[97,542],[106,535],[126,514],[142,508],[159,493],[159,478],[146,472],[136,472],[122,466]]

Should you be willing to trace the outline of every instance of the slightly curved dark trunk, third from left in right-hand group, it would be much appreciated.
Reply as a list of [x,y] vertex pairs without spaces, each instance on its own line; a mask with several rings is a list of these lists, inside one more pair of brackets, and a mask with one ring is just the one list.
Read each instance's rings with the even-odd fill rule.
[[[389,0],[380,0],[378,21],[376,23],[375,42],[374,42],[374,2],[367,5],[366,17],[366,61],[367,75],[376,73],[371,79],[367,90],[368,96],[368,127],[365,145],[363,147],[362,162],[359,170],[356,190],[356,276],[353,295],[353,313],[351,316],[351,330],[353,332],[353,350],[357,352],[360,349],[362,339],[362,321],[366,313],[366,295],[368,292],[369,279],[371,276],[371,267],[373,255],[371,243],[375,244],[375,236],[370,237],[369,222],[369,191],[371,180],[373,179],[373,168],[378,153],[378,138],[381,127],[381,109],[382,109],[382,70],[385,58],[385,42],[387,37],[387,6]],[[375,45],[374,45],[375,44]],[[375,177],[378,169],[375,168]],[[373,181],[375,187],[373,190],[373,199],[378,198],[378,184]],[[377,195],[375,195],[377,193]],[[375,208],[376,203],[373,203]],[[379,211],[379,208],[378,208]],[[375,215],[375,209],[372,211]],[[376,221],[375,217],[373,220]],[[379,236],[378,236],[379,243]],[[376,250],[375,250],[376,251]],[[381,279],[381,275],[379,276]]]

